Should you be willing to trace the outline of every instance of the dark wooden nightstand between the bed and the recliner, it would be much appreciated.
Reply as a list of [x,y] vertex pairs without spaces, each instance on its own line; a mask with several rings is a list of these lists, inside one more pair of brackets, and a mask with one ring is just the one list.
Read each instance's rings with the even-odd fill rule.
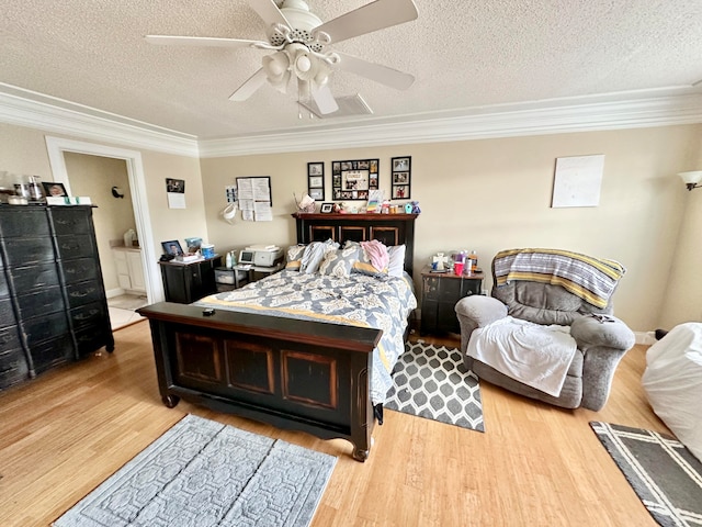
[[456,277],[452,271],[431,272],[429,267],[421,271],[421,326],[426,333],[461,333],[454,307],[458,300],[471,294],[480,294],[483,273]]

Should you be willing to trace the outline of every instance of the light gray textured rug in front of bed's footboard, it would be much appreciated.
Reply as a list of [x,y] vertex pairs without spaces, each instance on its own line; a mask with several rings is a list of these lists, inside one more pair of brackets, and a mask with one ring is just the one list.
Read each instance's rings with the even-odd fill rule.
[[53,525],[307,526],[336,462],[188,415]]

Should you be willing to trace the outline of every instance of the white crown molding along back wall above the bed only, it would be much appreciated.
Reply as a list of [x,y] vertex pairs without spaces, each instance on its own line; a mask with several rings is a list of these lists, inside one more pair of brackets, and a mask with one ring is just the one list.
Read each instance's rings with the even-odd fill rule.
[[551,108],[506,104],[441,119],[200,141],[200,157],[408,145],[702,123],[702,93]]

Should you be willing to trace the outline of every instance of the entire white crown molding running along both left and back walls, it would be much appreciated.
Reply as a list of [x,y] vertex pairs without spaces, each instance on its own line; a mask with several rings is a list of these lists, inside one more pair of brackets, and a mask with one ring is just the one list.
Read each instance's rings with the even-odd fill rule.
[[8,88],[0,83],[0,122],[200,158],[702,123],[702,93],[642,93],[638,99],[623,101],[586,98],[496,104],[469,109],[462,115],[406,115],[373,124],[356,121],[335,128],[197,141],[192,135],[26,92],[33,96],[31,99]]

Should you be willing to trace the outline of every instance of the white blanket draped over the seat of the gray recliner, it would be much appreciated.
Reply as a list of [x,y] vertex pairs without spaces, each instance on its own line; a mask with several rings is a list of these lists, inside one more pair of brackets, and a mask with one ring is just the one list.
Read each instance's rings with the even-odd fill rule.
[[568,326],[542,326],[507,316],[471,335],[467,355],[557,397],[577,344]]

